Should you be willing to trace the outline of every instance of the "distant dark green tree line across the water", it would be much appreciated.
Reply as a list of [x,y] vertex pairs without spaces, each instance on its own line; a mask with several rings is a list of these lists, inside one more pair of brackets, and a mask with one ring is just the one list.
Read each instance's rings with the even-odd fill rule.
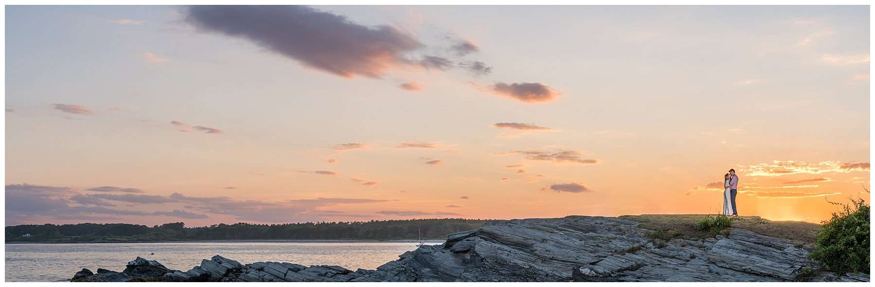
[[286,224],[214,224],[186,228],[183,222],[160,226],[127,223],[17,225],[6,227],[6,242],[162,242],[258,239],[444,239],[479,228],[485,220],[425,219],[401,221],[305,222]]

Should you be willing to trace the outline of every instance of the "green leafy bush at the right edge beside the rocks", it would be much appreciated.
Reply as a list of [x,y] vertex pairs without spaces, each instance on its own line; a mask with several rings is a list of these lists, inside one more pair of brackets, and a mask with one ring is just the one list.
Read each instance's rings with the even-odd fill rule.
[[842,208],[823,221],[809,258],[822,262],[828,271],[869,273],[870,207],[863,199],[851,199],[851,204],[830,203]]

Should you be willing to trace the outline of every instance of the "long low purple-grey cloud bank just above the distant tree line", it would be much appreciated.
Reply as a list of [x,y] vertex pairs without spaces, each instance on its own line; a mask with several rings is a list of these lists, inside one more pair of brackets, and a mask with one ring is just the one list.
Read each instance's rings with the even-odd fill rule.
[[[363,180],[363,179],[362,179]],[[369,182],[363,180],[363,183]],[[40,220],[115,221],[116,216],[172,216],[183,219],[204,219],[207,214],[228,214],[239,221],[303,222],[324,221],[326,217],[361,218],[362,214],[332,213],[321,210],[340,204],[368,204],[391,200],[318,198],[314,200],[285,200],[265,202],[236,200],[230,197],[193,197],[182,193],[169,196],[146,194],[83,194],[70,187],[6,185],[6,222],[9,225],[44,223]],[[110,203],[111,202],[111,203]],[[115,202],[129,203],[125,208]],[[175,207],[172,211],[138,211],[129,207]],[[178,207],[176,207],[178,206]],[[185,207],[182,210],[179,207]],[[197,211],[197,212],[193,212]],[[205,214],[206,213],[206,214]],[[124,219],[130,221],[130,218]],[[132,223],[137,223],[136,220]]]

